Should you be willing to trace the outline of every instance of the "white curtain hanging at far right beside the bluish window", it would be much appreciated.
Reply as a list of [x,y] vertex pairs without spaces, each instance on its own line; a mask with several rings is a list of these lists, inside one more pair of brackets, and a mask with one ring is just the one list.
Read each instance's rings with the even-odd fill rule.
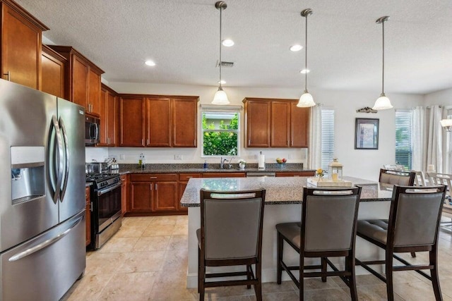
[[437,173],[448,171],[446,166],[446,136],[439,121],[446,112],[441,106],[416,107],[413,110],[412,168],[426,171],[433,164]]

